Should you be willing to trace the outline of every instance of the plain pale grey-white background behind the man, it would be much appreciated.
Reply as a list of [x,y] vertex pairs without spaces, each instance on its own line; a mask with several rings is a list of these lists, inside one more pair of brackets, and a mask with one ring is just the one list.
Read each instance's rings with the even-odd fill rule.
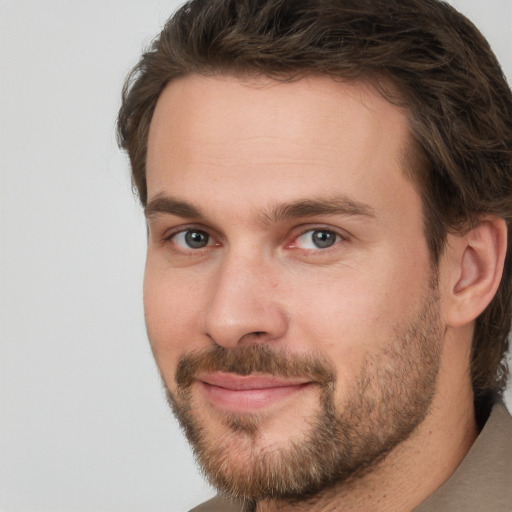
[[[512,79],[512,0],[452,3]],[[146,341],[145,227],[114,138],[124,77],[177,4],[0,0],[3,512],[173,512],[213,494]]]

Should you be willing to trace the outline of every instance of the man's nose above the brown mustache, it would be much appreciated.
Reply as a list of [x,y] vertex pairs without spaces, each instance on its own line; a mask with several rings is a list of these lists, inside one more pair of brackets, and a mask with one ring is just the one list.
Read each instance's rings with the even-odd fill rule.
[[277,342],[287,331],[279,276],[263,258],[228,256],[217,268],[205,311],[205,332],[224,348]]

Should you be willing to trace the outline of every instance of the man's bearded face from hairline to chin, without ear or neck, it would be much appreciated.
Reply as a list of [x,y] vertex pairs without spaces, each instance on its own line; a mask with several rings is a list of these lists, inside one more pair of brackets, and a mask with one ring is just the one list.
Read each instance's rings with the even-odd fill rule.
[[317,492],[428,413],[440,312],[407,141],[404,113],[361,84],[192,75],[163,92],[146,322],[223,490]]

